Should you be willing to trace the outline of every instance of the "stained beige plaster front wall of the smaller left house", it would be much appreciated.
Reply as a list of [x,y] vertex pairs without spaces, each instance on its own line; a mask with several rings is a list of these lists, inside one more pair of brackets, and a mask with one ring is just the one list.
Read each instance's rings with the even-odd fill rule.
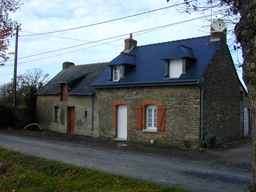
[[[68,101],[60,101],[59,95],[38,95],[36,102],[36,120],[45,130],[69,132],[69,107],[75,107],[75,134],[98,136],[98,95],[93,96],[93,130],[92,99],[89,95],[69,95]],[[60,107],[59,123],[54,122],[54,107]],[[85,117],[87,111],[87,117]]]

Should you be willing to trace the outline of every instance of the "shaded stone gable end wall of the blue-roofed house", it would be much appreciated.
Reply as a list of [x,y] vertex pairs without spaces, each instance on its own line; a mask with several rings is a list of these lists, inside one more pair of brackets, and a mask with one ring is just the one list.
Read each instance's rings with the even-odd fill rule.
[[238,139],[240,92],[236,71],[221,43],[202,77],[203,134],[216,133],[217,143]]

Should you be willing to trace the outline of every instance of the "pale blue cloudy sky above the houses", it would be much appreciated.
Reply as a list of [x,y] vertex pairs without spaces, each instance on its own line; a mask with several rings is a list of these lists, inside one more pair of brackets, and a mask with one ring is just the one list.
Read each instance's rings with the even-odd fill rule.
[[[203,19],[148,31],[148,33],[138,32],[202,17],[197,13],[180,13],[175,7],[161,9],[173,5],[166,0],[21,0],[21,2],[24,5],[17,12],[9,15],[12,20],[22,24],[18,37],[18,75],[26,73],[26,70],[39,68],[53,78],[62,70],[63,62],[73,62],[75,65],[110,62],[123,51],[124,39],[129,38],[130,33],[133,33],[133,39],[137,40],[138,46],[210,34],[210,22]],[[156,9],[161,10],[83,27]],[[71,28],[77,29],[67,30]],[[60,30],[65,31],[48,33]],[[48,34],[26,36],[34,33]],[[95,41],[98,43],[89,43]],[[9,51],[14,52],[15,37],[10,39],[10,44]],[[68,48],[71,46],[75,47]],[[62,50],[55,51],[58,49]],[[66,54],[67,52],[71,53]],[[31,55],[35,56],[27,57]],[[13,78],[14,60],[12,59],[13,56],[4,67],[0,67],[0,85],[8,83]],[[239,72],[238,75],[242,81],[242,73]]]

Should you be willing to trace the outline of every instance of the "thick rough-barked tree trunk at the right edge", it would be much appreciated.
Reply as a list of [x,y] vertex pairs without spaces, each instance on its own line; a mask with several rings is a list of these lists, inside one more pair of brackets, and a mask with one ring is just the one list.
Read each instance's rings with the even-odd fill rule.
[[[237,40],[242,45],[243,79],[248,88],[252,129],[252,186],[256,186],[256,0],[235,1],[241,19],[235,27]],[[255,191],[255,187],[254,190]]]

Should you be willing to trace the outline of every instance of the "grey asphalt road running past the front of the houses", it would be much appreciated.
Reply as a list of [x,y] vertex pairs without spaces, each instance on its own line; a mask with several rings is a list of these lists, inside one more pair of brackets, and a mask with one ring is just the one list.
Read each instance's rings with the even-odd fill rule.
[[251,172],[207,162],[102,149],[29,136],[0,135],[0,147],[48,160],[195,192],[240,192]]

